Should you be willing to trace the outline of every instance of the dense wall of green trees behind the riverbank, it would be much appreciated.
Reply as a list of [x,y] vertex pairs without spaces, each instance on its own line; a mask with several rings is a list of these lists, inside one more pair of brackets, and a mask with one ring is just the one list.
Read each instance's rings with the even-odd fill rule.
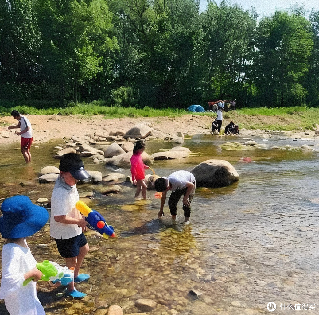
[[319,11],[199,0],[0,1],[0,97],[42,108],[319,105]]

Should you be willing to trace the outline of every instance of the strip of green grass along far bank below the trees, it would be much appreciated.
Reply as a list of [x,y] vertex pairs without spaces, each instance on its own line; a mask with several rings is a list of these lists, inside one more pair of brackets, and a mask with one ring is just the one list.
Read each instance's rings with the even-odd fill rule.
[[[30,106],[16,106],[13,108],[0,108],[0,114],[10,116],[11,110],[17,109],[25,115],[104,115],[106,118],[123,117],[179,117],[189,112],[185,109],[153,109],[145,107],[109,107],[100,105],[95,101],[90,104],[78,103],[65,108],[37,109]],[[196,115],[216,117],[215,113],[194,113]],[[312,129],[314,124],[319,124],[319,108],[307,107],[281,107],[281,108],[242,108],[224,112],[226,121],[233,120],[240,128],[266,129],[266,130],[295,130]]]

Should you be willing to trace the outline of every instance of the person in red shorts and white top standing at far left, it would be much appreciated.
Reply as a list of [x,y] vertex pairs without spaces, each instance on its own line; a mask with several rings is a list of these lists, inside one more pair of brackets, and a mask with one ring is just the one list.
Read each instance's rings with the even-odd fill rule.
[[20,113],[17,110],[12,110],[11,116],[14,119],[17,119],[19,123],[15,126],[8,127],[8,129],[20,128],[20,132],[16,131],[14,134],[18,136],[21,135],[21,152],[23,154],[24,159],[26,160],[26,163],[30,163],[30,147],[33,140],[31,123],[28,118],[26,118],[23,115],[20,115]]

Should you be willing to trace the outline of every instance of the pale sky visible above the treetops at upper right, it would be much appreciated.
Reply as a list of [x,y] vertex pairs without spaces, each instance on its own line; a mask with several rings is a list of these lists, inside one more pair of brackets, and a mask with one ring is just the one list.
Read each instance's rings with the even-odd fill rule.
[[[221,0],[216,0],[217,4]],[[315,10],[319,10],[319,1],[318,0],[304,0],[304,1],[293,1],[293,0],[232,0],[232,3],[240,4],[244,9],[250,10],[254,6],[261,16],[269,15],[275,12],[275,9],[287,9],[290,7],[290,4],[294,5],[304,4],[306,10],[310,10],[314,7]],[[207,0],[200,0],[200,9],[204,11],[206,8]]]

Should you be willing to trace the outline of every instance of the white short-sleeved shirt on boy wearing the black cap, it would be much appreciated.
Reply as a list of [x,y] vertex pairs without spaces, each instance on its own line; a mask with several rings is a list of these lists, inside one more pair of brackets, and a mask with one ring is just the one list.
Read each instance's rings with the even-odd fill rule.
[[59,176],[51,196],[50,235],[52,237],[65,240],[82,233],[82,228],[78,225],[65,224],[54,219],[55,215],[68,215],[71,218],[81,219],[81,213],[75,207],[78,200],[77,186],[69,186]]

